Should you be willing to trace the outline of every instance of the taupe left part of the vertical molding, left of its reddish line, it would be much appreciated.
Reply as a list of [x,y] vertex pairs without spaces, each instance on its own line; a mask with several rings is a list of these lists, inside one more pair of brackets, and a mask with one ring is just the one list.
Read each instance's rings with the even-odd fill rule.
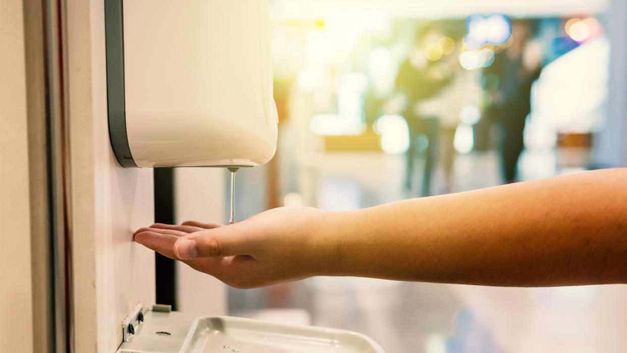
[[53,260],[48,200],[48,134],[46,132],[45,9],[40,1],[24,1],[24,50],[28,124],[31,266],[33,286],[33,352],[53,351]]

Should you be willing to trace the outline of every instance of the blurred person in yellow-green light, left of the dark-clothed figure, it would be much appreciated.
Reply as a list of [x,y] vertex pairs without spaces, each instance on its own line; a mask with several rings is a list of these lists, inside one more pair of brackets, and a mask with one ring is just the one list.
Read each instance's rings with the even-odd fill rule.
[[435,24],[418,29],[414,39],[414,47],[409,57],[403,61],[396,77],[396,90],[404,95],[405,108],[401,115],[409,128],[409,148],[407,150],[407,167],[405,188],[411,190],[413,181],[414,158],[417,139],[426,137],[428,145],[424,150],[424,172],[421,196],[431,194],[431,176],[436,162],[438,149],[438,116],[421,115],[420,103],[435,96],[450,82],[451,69],[443,60],[429,60],[426,53],[428,45],[436,43],[443,37]]

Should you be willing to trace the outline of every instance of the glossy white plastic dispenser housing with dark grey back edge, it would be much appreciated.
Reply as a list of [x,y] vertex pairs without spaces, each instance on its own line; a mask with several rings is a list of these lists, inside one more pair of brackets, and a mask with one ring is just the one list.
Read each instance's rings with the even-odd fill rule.
[[105,0],[105,23],[120,164],[251,167],[273,157],[267,0]]

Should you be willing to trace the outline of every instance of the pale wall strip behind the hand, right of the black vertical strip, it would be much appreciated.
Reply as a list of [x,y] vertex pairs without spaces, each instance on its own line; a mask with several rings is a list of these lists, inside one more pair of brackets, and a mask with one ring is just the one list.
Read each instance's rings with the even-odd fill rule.
[[[177,168],[174,174],[176,221],[223,224],[226,172],[221,168]],[[178,310],[198,315],[226,313],[226,285],[184,263],[176,264]]]

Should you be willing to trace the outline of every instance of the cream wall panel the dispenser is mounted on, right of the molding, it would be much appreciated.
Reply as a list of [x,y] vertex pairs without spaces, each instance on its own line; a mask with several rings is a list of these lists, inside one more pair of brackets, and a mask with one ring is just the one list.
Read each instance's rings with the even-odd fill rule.
[[68,0],[76,352],[115,352],[122,319],[154,303],[154,253],[132,243],[153,222],[152,169],[123,169],[107,128],[102,0]]

